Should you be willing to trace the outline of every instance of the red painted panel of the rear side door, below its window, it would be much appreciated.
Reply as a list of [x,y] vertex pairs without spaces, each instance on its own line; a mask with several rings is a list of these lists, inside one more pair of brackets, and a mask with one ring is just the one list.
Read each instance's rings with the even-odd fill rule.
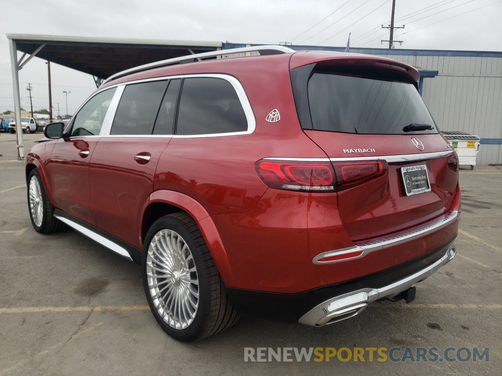
[[[103,137],[92,154],[90,210],[97,227],[142,249],[136,220],[154,190],[157,162],[171,138]],[[148,163],[135,156],[149,152]]]

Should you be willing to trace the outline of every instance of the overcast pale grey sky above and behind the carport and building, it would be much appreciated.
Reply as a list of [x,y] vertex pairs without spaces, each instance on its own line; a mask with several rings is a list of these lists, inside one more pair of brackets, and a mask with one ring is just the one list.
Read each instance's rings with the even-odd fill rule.
[[[392,0],[0,0],[0,5],[4,33],[320,46],[345,46],[352,33],[351,47],[379,48],[380,40],[389,36],[381,26],[390,22]],[[404,41],[397,48],[501,51],[501,18],[502,0],[396,0],[396,26],[406,25],[397,31],[395,39]],[[87,74],[56,64],[51,73],[54,115],[58,102],[61,114],[66,112],[64,90],[71,92],[70,114],[95,90]],[[48,108],[45,61],[31,60],[20,71],[19,82],[23,108],[30,107],[27,82],[33,84],[34,110]],[[2,112],[14,110],[12,98],[4,34]]]

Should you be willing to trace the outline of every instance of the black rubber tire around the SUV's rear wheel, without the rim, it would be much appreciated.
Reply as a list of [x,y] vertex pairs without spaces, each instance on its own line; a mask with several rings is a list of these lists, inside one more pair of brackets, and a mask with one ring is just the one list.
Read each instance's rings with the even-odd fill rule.
[[[193,321],[184,329],[176,329],[164,320],[153,302],[148,284],[147,260],[150,243],[159,231],[165,229],[172,230],[182,237],[189,247],[196,267],[198,308]],[[229,328],[240,317],[237,310],[228,301],[225,285],[199,227],[186,213],[175,213],[161,217],[150,227],[143,247],[142,274],[150,309],[162,329],[174,339],[190,342],[207,338]]]

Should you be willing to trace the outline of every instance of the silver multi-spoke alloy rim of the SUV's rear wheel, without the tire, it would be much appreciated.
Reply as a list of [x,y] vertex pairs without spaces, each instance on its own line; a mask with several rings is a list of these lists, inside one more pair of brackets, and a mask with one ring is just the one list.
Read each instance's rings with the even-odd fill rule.
[[159,315],[174,329],[190,326],[199,305],[199,279],[183,238],[167,229],[155,234],[146,268],[150,295]]

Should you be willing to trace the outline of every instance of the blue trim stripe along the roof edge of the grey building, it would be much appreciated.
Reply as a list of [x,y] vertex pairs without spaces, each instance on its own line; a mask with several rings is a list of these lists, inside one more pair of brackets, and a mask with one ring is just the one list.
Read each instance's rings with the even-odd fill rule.
[[[250,46],[260,46],[259,44],[250,44]],[[246,47],[240,43],[223,43],[221,49]],[[329,46],[288,46],[293,50],[316,50],[316,51],[337,51],[345,52],[345,47]],[[502,52],[498,51],[449,51],[449,50],[402,50],[388,48],[356,48],[350,47],[351,53],[368,55],[411,55],[411,56],[470,56],[482,58],[502,58]]]

